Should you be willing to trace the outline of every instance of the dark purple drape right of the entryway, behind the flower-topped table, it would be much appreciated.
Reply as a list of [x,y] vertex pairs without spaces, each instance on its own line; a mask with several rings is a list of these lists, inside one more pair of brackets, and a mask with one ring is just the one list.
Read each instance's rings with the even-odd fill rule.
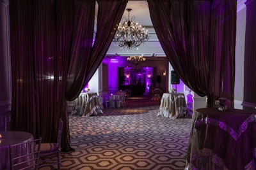
[[157,37],[173,69],[207,106],[234,107],[236,0],[148,0]]

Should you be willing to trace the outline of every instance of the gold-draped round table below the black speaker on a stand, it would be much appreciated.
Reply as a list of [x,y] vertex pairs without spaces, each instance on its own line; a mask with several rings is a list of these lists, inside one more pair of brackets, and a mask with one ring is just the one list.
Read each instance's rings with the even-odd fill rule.
[[180,118],[187,115],[187,104],[183,93],[164,93],[157,116]]

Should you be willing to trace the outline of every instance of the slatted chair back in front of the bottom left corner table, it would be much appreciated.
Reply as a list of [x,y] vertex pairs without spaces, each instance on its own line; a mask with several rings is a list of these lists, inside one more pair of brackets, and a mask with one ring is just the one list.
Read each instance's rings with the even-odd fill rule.
[[38,169],[42,138],[10,145],[10,163],[12,170]]

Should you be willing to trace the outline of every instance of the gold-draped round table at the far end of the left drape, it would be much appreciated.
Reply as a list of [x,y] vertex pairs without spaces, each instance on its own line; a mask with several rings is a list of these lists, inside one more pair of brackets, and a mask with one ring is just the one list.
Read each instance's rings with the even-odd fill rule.
[[71,115],[77,114],[82,117],[90,117],[91,115],[96,116],[102,113],[97,93],[81,93],[74,101]]

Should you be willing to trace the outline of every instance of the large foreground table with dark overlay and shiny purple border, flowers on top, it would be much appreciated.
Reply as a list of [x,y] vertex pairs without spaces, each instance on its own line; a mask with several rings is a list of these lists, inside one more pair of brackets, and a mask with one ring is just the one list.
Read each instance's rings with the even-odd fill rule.
[[185,169],[255,170],[255,156],[253,113],[200,108],[193,114]]

